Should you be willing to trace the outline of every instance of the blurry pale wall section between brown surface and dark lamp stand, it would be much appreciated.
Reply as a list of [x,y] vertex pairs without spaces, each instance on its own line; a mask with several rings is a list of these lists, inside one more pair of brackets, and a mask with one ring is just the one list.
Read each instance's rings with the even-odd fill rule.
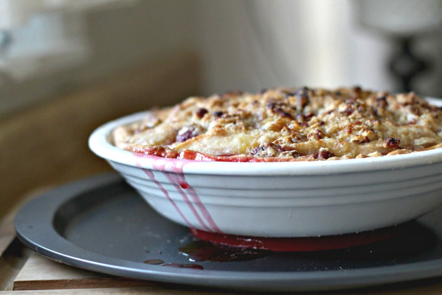
[[271,86],[395,88],[387,39],[348,0],[199,1],[205,91]]

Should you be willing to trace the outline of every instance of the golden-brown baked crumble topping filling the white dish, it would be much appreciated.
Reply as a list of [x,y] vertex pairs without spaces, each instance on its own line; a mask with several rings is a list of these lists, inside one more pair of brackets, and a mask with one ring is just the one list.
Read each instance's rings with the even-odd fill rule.
[[118,148],[167,158],[300,161],[442,147],[442,110],[414,92],[276,88],[190,97],[114,130]]

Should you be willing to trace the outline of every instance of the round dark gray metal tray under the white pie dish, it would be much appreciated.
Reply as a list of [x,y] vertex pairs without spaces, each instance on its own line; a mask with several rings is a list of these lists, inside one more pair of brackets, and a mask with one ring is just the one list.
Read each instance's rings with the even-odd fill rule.
[[[188,229],[158,215],[111,174],[60,186],[32,200],[16,216],[15,226],[28,247],[51,259],[160,282],[250,291],[319,291],[442,275],[442,207],[418,218],[404,234],[371,245],[251,253],[249,260],[226,250],[238,261],[224,257],[193,262],[179,251],[195,243]],[[164,263],[143,263],[153,259]]]

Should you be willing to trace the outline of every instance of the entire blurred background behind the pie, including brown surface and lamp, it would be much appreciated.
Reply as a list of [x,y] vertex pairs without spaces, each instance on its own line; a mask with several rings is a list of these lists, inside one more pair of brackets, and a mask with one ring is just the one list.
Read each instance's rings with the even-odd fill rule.
[[0,0],[0,204],[106,170],[96,126],[190,95],[442,97],[441,25],[441,0]]

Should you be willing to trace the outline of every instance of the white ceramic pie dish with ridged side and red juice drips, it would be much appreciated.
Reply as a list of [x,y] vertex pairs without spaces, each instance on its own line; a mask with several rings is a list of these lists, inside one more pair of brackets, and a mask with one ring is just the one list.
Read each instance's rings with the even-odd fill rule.
[[[437,102],[437,100],[433,100]],[[205,162],[116,148],[108,122],[89,138],[160,214],[184,226],[245,236],[325,236],[412,220],[442,202],[442,148],[313,162]]]

